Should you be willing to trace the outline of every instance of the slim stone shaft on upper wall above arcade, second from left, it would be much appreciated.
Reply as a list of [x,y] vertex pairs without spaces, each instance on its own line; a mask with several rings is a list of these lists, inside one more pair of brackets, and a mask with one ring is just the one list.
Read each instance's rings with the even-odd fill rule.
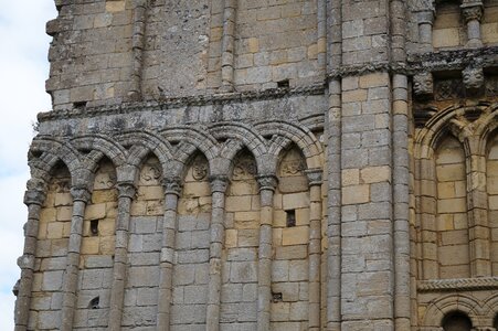
[[221,50],[221,86],[225,92],[233,90],[233,68],[235,61],[235,17],[237,0],[224,0],[223,38]]

